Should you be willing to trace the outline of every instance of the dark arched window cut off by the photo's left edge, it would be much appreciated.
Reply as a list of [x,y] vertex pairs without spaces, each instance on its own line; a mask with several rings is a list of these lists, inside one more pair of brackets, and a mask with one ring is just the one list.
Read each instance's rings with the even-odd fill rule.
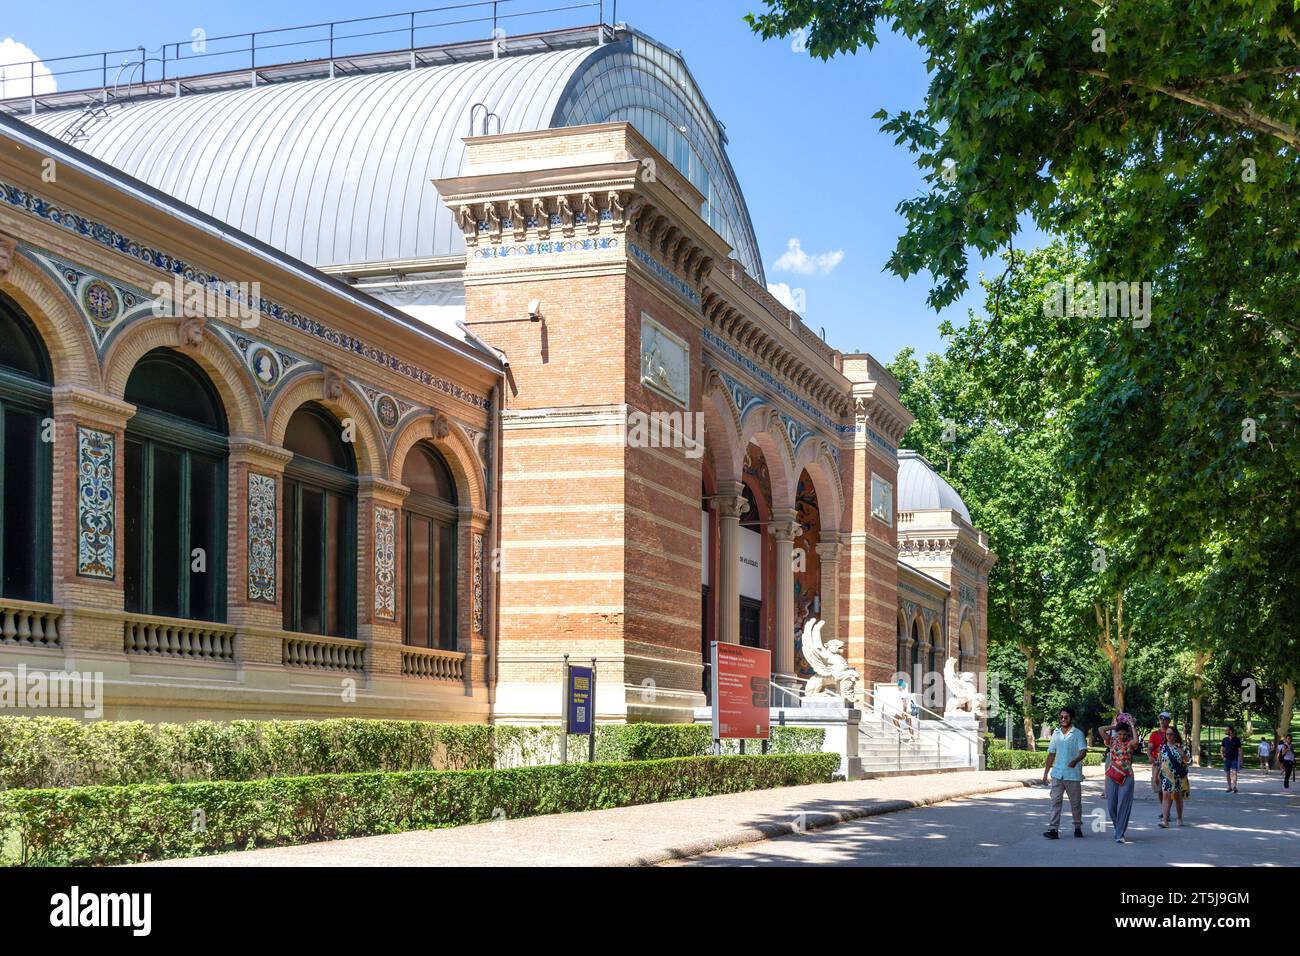
[[49,600],[49,355],[0,293],[0,597]]

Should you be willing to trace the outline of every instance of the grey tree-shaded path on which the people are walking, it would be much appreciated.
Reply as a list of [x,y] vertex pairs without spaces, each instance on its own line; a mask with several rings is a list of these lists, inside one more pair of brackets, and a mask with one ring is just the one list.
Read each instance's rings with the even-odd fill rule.
[[[1141,770],[1141,769],[1140,769]],[[703,866],[1296,866],[1300,792],[1278,774],[1247,771],[1227,793],[1222,771],[1193,770],[1184,826],[1161,830],[1156,797],[1139,787],[1127,843],[1096,832],[1105,819],[1101,782],[1084,784],[1084,832],[1045,840],[1043,788],[1001,791],[940,806],[858,819],[686,861]],[[1065,822],[1069,823],[1069,812]]]

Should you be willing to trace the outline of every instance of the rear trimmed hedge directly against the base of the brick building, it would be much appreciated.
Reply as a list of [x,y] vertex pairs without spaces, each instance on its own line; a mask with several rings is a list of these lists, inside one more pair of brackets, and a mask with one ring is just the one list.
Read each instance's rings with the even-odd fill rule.
[[[419,721],[144,723],[0,717],[0,790],[255,780],[408,770],[491,770],[559,760],[559,727]],[[772,753],[816,753],[823,731],[774,727]],[[597,760],[706,756],[707,724],[599,724]],[[736,744],[728,741],[729,750]],[[759,750],[750,741],[750,752]],[[569,739],[585,761],[586,737]]]

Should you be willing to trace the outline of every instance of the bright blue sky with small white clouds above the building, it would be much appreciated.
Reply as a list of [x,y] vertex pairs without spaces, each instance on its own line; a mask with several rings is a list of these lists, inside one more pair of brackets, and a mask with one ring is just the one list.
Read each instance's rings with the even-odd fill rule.
[[[515,9],[571,1],[520,0]],[[0,40],[13,38],[48,60],[138,46],[153,49],[187,40],[195,29],[214,38],[396,13],[439,0],[131,0],[125,5],[64,0],[57,16],[44,4],[5,5]],[[503,10],[508,7],[502,4]],[[920,52],[888,35],[870,53],[822,62],[796,52],[789,40],[764,43],[754,36],[741,18],[760,7],[760,0],[619,0],[618,10],[620,20],[681,49],[727,125],[768,282],[803,290],[807,324],[824,328],[838,349],[866,350],[881,360],[905,346],[920,354],[941,350],[941,316],[926,304],[928,276],[904,282],[884,271],[902,230],[894,208],[926,185],[913,156],[871,118],[881,107],[894,112],[920,105],[927,82]],[[555,14],[550,22],[556,17],[578,22],[576,16]],[[594,20],[588,14],[588,22]],[[526,22],[515,21],[510,31],[524,33]],[[783,263],[792,241],[800,243],[801,255],[786,255]],[[1018,245],[1030,243],[1022,238]],[[979,304],[980,268],[992,273],[994,265],[975,263],[976,291],[942,316],[962,323],[967,308]]]

